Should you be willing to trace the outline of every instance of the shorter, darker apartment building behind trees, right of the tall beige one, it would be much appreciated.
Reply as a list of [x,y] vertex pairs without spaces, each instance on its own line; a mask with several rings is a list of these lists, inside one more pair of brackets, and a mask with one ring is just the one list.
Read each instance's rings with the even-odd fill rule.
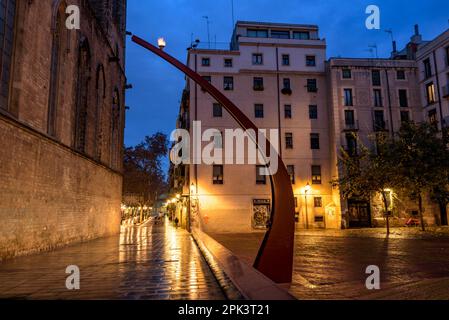
[[[413,60],[342,59],[328,62],[333,176],[338,176],[337,159],[341,148],[356,155],[361,145],[373,149],[376,135],[392,135],[404,121],[423,121],[417,66]],[[407,196],[390,191],[393,225],[404,225],[416,205]],[[396,201],[393,201],[393,197]],[[377,199],[378,198],[378,199]],[[372,227],[385,224],[379,197],[370,202],[341,199],[344,227]],[[399,201],[400,200],[400,201]],[[431,211],[429,201],[426,211]],[[426,215],[428,223],[434,221]]]

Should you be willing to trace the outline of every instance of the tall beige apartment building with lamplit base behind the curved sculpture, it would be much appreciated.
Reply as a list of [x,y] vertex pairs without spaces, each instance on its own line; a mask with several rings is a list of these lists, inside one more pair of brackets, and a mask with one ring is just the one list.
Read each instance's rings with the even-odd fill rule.
[[[259,128],[278,130],[276,142],[292,177],[298,225],[339,228],[339,197],[329,183],[326,42],[318,31],[310,25],[239,22],[231,50],[192,49],[188,61]],[[219,130],[229,152],[224,132],[238,128],[235,121],[194,82],[188,81],[186,92],[180,122],[192,128],[201,121],[203,133]],[[234,164],[192,164],[183,170],[187,189],[194,186],[199,220],[210,232],[265,229],[272,200],[269,178],[258,174],[257,165],[235,164],[235,149],[233,153]],[[308,194],[307,184],[312,186]]]

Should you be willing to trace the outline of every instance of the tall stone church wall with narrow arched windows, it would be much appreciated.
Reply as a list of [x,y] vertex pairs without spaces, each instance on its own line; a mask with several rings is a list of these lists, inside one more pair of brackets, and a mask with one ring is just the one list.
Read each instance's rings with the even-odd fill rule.
[[126,1],[0,10],[0,259],[117,233]]

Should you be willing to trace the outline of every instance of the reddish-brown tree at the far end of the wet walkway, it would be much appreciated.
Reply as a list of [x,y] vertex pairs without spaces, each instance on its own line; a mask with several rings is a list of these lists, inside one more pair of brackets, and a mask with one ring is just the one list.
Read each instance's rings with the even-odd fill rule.
[[135,195],[139,205],[149,206],[167,189],[162,160],[168,154],[168,138],[163,133],[145,137],[124,152],[123,194]]

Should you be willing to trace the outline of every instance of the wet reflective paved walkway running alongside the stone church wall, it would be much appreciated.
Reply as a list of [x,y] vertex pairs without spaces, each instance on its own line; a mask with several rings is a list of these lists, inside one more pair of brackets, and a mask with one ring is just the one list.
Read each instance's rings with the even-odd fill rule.
[[[69,291],[66,267],[81,272]],[[190,235],[168,222],[0,263],[0,298],[214,300],[224,295]]]

